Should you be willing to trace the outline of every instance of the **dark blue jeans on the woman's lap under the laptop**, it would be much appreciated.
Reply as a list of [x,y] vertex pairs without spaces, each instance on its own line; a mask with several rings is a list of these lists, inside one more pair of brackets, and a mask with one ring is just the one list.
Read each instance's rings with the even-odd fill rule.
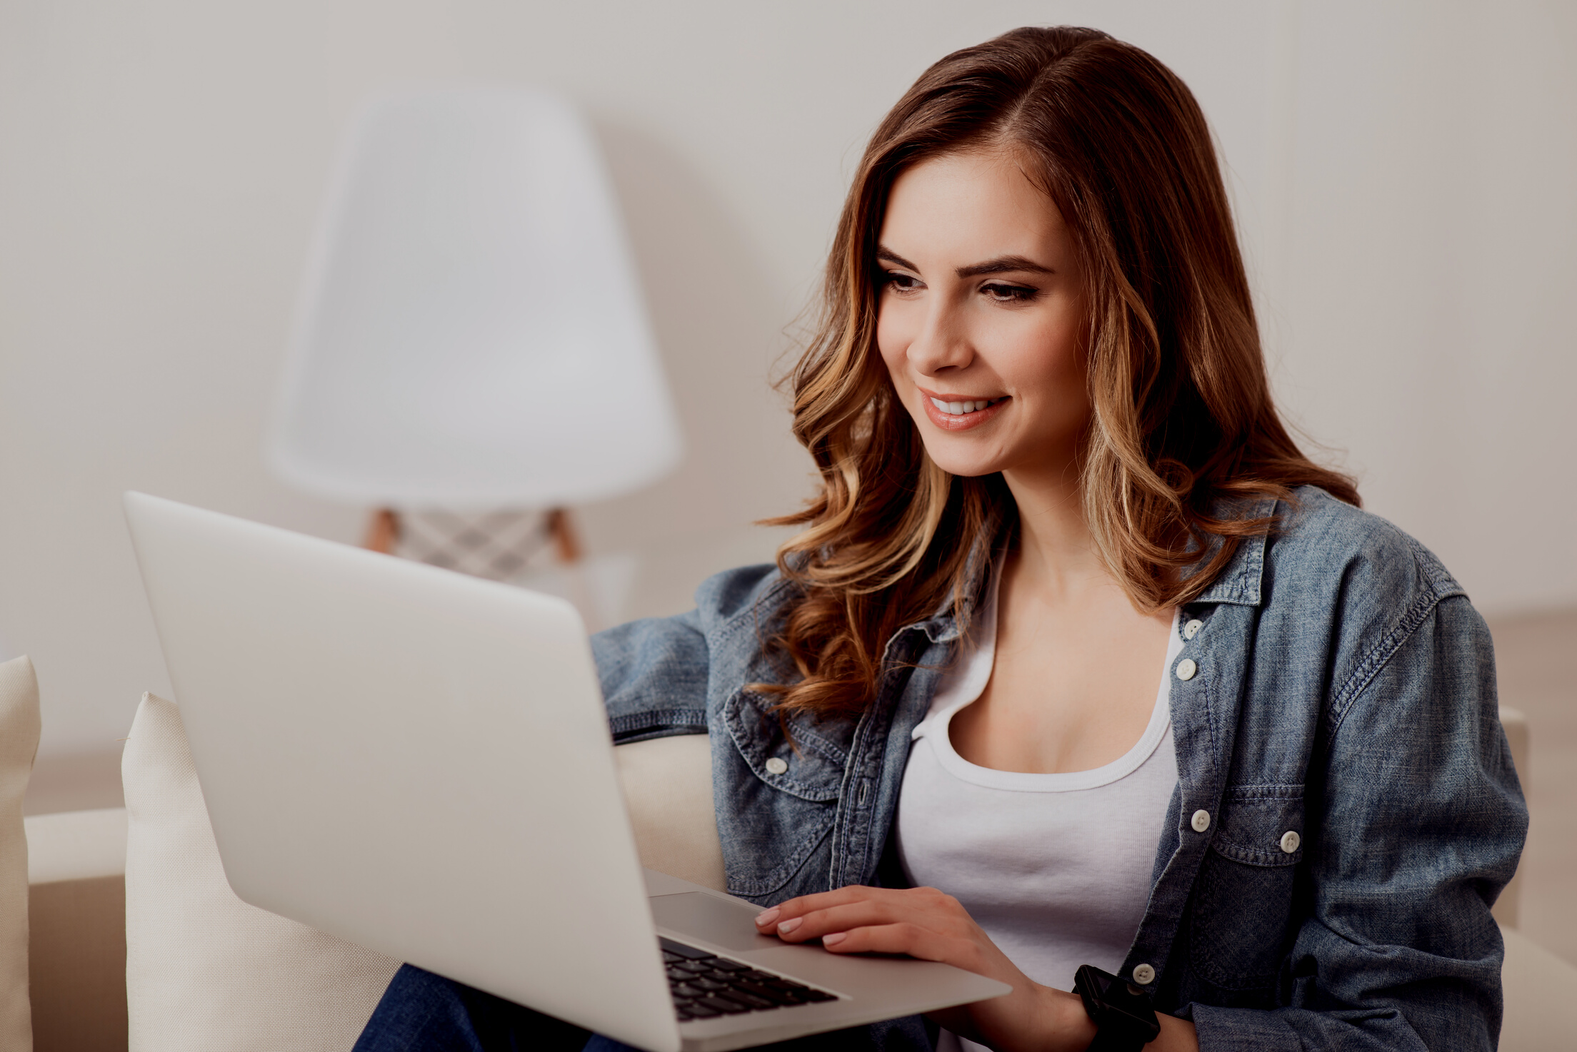
[[[893,1035],[883,1036],[897,1038],[897,1032],[905,1028],[899,1024],[893,1030]],[[902,1038],[897,1041],[877,1038],[874,1041],[872,1032],[859,1027],[762,1047],[774,1052],[929,1050],[930,1043],[919,1032],[919,1027],[910,1027],[910,1030],[918,1032],[913,1035],[918,1043]],[[383,1000],[372,1011],[372,1019],[367,1021],[367,1027],[361,1032],[352,1052],[639,1050],[501,997],[472,989],[464,983],[404,964],[394,973],[388,989],[383,991]]]

